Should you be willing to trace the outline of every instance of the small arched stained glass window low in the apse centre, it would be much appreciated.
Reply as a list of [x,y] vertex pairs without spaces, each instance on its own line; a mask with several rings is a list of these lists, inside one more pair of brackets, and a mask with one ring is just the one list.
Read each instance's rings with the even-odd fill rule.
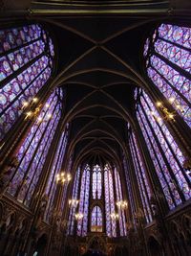
[[91,231],[102,232],[102,212],[97,205],[92,210]]

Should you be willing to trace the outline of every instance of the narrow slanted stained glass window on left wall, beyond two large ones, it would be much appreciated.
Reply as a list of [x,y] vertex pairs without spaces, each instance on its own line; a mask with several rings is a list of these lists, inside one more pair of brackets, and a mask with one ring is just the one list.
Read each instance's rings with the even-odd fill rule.
[[49,181],[46,187],[46,195],[49,198],[46,213],[45,213],[45,220],[50,221],[51,217],[53,215],[53,199],[56,191],[56,175],[60,172],[61,166],[62,166],[62,161],[64,158],[64,153],[66,150],[66,144],[68,140],[68,130],[66,129],[65,132],[62,132],[59,144],[57,147],[57,150],[55,152],[55,156],[53,159],[53,165],[51,169],[51,174],[49,176]]

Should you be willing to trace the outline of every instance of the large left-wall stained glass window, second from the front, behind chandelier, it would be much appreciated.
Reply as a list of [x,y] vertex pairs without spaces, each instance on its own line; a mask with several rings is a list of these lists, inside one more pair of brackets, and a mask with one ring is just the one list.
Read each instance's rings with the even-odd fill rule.
[[26,205],[31,202],[61,116],[62,96],[60,88],[53,91],[17,152],[19,164],[13,170],[8,192]]

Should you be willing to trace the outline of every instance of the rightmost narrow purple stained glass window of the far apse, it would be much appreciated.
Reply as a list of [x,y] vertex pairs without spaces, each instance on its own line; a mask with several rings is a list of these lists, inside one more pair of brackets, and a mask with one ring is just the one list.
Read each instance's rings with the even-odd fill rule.
[[[120,182],[120,176],[117,172],[117,168],[115,167],[115,182],[116,182],[116,192],[117,192],[117,202],[123,201],[122,197],[122,188],[121,188],[121,182]],[[125,236],[127,234],[126,229],[126,221],[125,221],[125,209],[122,207],[118,207],[118,215],[119,215],[119,231],[120,236]]]

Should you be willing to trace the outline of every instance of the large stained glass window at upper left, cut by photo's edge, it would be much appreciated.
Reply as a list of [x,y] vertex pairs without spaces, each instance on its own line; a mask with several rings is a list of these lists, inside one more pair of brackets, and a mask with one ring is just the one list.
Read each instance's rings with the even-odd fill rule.
[[53,42],[41,25],[0,31],[0,140],[48,81]]

